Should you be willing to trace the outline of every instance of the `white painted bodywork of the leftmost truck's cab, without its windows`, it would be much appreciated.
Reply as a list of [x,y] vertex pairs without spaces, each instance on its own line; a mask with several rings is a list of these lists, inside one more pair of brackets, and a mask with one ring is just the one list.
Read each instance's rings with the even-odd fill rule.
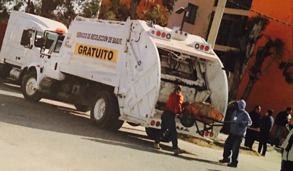
[[42,65],[44,59],[40,56],[40,48],[34,45],[36,32],[31,40],[33,47],[29,49],[20,44],[23,30],[32,29],[44,32],[45,30],[56,30],[57,28],[67,31],[66,26],[57,21],[21,11],[11,11],[0,51],[0,63],[4,63],[5,59],[6,63],[19,66],[21,69],[32,63]]

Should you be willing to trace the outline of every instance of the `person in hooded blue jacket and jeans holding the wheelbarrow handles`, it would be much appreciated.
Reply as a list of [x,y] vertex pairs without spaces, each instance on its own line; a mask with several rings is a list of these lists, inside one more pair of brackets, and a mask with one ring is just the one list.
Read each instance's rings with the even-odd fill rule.
[[[229,167],[237,167],[239,158],[239,148],[246,133],[247,126],[251,126],[252,122],[249,114],[245,111],[245,101],[237,101],[238,107],[231,115],[231,121],[236,124],[230,125],[230,134],[224,144],[223,159],[220,163],[229,163]],[[232,157],[231,156],[232,151]],[[230,160],[232,159],[231,163]]]

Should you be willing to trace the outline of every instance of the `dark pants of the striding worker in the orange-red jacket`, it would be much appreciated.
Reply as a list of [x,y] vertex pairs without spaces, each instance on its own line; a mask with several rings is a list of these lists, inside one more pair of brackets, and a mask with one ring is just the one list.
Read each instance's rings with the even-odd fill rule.
[[163,134],[169,130],[169,134],[171,135],[173,149],[178,148],[178,140],[177,140],[177,131],[176,131],[176,124],[175,124],[175,114],[169,111],[164,111],[161,116],[161,130],[160,133],[157,135],[155,139],[155,143],[160,143],[161,137]]

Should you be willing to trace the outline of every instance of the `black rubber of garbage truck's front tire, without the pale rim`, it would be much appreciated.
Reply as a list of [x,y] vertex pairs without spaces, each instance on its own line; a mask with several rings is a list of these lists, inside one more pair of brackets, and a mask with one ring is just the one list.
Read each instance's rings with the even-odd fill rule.
[[35,91],[33,94],[28,94],[26,91],[28,81],[31,78],[34,78],[35,80],[37,80],[37,73],[35,71],[32,71],[32,72],[25,74],[25,76],[23,77],[22,84],[21,84],[21,92],[22,92],[25,99],[32,101],[32,102],[38,102],[42,99],[41,93],[38,90],[33,88],[32,90]]

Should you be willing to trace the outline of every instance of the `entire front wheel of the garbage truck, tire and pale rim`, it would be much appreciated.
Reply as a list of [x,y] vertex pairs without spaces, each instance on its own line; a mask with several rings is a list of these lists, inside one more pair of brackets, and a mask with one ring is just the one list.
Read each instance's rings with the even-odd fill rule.
[[37,84],[37,73],[32,71],[23,77],[21,91],[25,99],[38,102],[42,99],[41,93],[35,88]]

